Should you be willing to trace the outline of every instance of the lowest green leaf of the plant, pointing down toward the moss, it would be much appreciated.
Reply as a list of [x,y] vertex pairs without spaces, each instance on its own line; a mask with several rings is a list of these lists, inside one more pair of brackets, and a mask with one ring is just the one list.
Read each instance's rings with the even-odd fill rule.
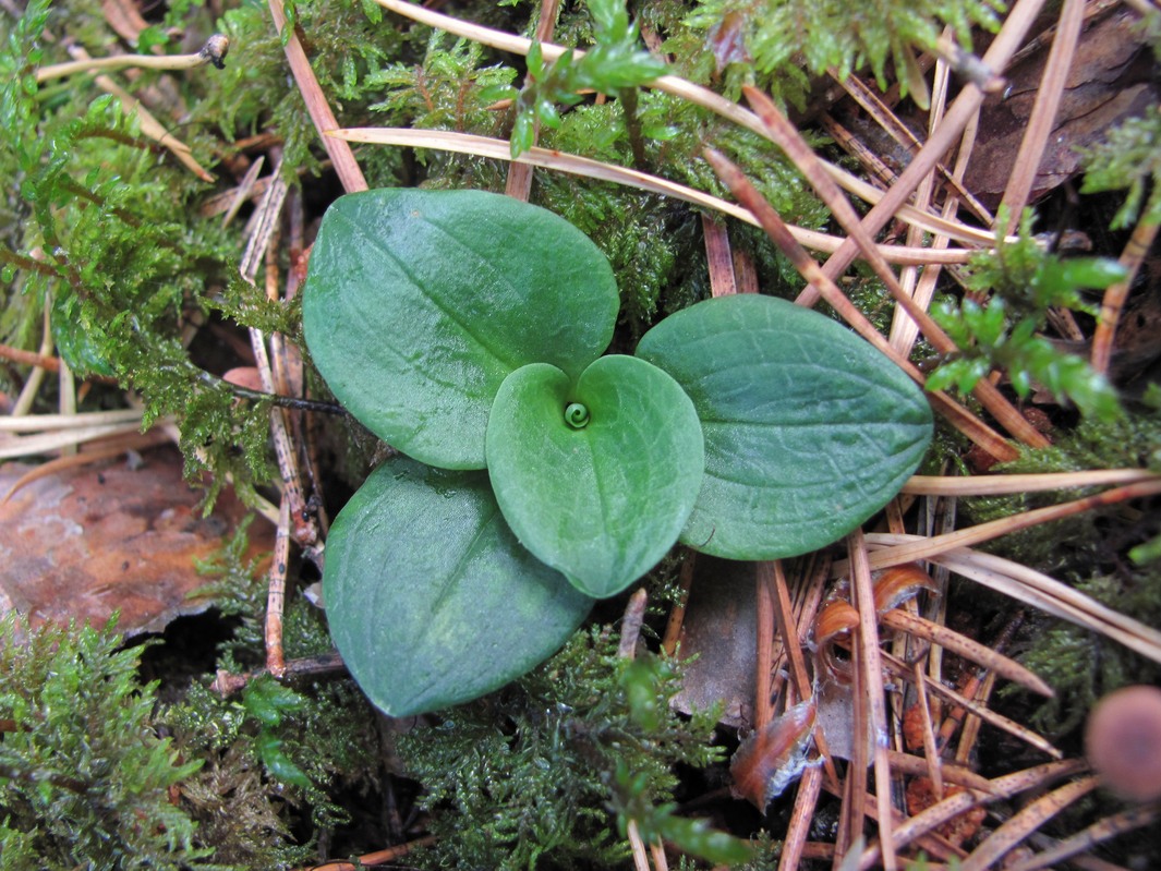
[[474,699],[548,658],[592,600],[515,540],[488,475],[377,468],[326,541],[331,636],[392,717]]

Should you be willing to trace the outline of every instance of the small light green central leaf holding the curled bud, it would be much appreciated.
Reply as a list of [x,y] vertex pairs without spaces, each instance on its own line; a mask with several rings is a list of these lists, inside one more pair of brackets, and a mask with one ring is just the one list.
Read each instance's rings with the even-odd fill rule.
[[517,369],[488,422],[488,472],[520,541],[590,596],[612,596],[673,546],[701,485],[693,404],[632,357],[603,357],[574,384]]

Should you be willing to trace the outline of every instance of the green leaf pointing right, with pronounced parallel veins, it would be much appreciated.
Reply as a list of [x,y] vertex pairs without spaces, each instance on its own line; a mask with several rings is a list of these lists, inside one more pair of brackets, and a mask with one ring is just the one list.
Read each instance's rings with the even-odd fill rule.
[[716,556],[773,560],[842,538],[899,491],[931,440],[931,409],[902,370],[784,300],[697,303],[636,353],[698,410],[706,477],[682,540]]

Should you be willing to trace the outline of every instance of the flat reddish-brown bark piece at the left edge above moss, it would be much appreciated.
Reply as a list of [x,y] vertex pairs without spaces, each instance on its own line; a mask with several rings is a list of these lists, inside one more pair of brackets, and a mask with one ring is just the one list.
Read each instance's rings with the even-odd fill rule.
[[[0,466],[0,491],[30,467]],[[34,626],[121,612],[120,632],[159,632],[212,602],[192,597],[208,580],[194,568],[222,547],[246,514],[224,490],[202,517],[201,492],[181,476],[172,448],[140,463],[102,461],[65,469],[19,489],[0,505],[0,614],[17,611]],[[250,528],[253,553],[273,547],[266,521]]]

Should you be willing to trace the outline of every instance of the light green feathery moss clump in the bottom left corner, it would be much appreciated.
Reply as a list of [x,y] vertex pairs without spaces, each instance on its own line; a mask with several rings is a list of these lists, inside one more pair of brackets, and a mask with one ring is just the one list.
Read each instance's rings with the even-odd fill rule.
[[[19,639],[17,635],[22,635]],[[0,869],[207,868],[212,849],[170,800],[181,761],[137,681],[139,648],[103,628],[0,622]],[[29,861],[31,859],[31,861]]]

